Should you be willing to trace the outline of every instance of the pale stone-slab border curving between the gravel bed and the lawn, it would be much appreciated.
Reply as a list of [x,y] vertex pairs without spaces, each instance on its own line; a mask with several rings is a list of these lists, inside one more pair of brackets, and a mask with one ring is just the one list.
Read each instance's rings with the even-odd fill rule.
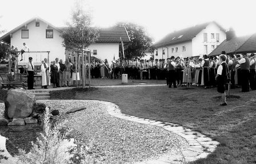
[[150,164],[150,163],[184,163],[184,162],[193,162],[200,158],[206,158],[207,155],[215,151],[219,142],[213,141],[211,138],[195,132],[191,129],[183,128],[181,125],[173,124],[170,122],[161,122],[145,118],[139,118],[135,116],[130,116],[128,114],[122,114],[121,110],[114,103],[99,101],[107,106],[107,112],[114,117],[121,118],[123,120],[129,120],[138,122],[141,124],[149,124],[152,126],[160,126],[165,130],[178,134],[179,136],[185,138],[189,146],[185,150],[181,150],[182,157],[166,157],[162,155],[159,159],[153,159],[148,161],[138,162],[138,164]]

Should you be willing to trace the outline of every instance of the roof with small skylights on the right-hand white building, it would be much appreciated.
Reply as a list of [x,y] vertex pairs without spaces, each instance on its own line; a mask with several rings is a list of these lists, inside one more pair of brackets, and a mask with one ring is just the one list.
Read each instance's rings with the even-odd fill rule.
[[154,44],[155,47],[167,46],[171,44],[176,44],[180,42],[185,42],[187,40],[193,39],[199,32],[201,32],[206,26],[210,23],[215,23],[222,31],[225,31],[218,23],[216,22],[207,22],[202,24],[197,24],[196,26],[185,28],[183,30],[174,31],[166,35],[163,39],[159,40]]

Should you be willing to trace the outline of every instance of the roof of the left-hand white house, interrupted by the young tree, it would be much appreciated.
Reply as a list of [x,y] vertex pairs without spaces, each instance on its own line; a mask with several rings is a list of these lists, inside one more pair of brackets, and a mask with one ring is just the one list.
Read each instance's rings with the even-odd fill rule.
[[[62,32],[67,27],[55,27],[52,24],[46,22],[42,18],[32,18],[30,20],[27,20],[27,22],[22,23],[20,26],[14,28],[10,32],[7,32],[5,35],[3,35],[0,40],[6,43],[10,43],[10,34],[18,31],[20,28],[24,27],[25,24],[28,24],[32,22],[35,19],[42,20],[42,22],[45,22],[46,24],[49,24],[50,27],[54,28],[55,30]],[[123,42],[130,42],[129,35],[127,34],[125,27],[108,27],[108,28],[99,28],[99,38],[96,42],[120,42],[120,38],[122,38]]]

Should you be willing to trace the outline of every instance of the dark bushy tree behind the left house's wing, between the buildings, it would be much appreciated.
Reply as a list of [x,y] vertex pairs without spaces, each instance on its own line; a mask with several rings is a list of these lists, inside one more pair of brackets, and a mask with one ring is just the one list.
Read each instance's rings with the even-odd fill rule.
[[147,34],[144,27],[134,23],[117,23],[118,27],[126,27],[131,42],[125,56],[127,58],[143,57],[144,52],[153,45],[153,39]]

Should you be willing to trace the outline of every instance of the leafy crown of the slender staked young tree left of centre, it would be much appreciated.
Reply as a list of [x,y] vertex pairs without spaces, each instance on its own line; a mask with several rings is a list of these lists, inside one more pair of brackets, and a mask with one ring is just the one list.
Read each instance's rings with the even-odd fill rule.
[[66,50],[81,50],[82,47],[89,47],[97,40],[98,28],[90,27],[90,25],[90,14],[82,9],[81,1],[76,1],[75,9],[71,14],[71,22],[67,22],[68,27],[61,34],[64,39],[62,44]]

